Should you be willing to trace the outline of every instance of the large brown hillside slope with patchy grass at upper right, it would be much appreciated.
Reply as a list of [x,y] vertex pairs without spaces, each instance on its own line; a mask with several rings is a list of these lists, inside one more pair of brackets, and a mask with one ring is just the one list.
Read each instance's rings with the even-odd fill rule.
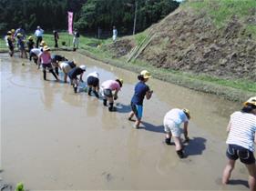
[[255,13],[254,0],[187,1],[145,32],[108,49],[128,61],[256,82]]

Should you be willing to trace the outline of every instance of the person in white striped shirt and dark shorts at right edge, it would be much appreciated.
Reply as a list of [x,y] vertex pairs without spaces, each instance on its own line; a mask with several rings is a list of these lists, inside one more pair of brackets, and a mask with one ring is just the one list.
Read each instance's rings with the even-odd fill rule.
[[226,141],[228,144],[226,152],[228,164],[223,171],[222,183],[229,183],[236,160],[240,158],[241,163],[247,167],[249,172],[250,190],[255,191],[256,166],[253,152],[256,143],[256,96],[247,100],[241,111],[236,111],[230,116],[227,131],[229,133]]

